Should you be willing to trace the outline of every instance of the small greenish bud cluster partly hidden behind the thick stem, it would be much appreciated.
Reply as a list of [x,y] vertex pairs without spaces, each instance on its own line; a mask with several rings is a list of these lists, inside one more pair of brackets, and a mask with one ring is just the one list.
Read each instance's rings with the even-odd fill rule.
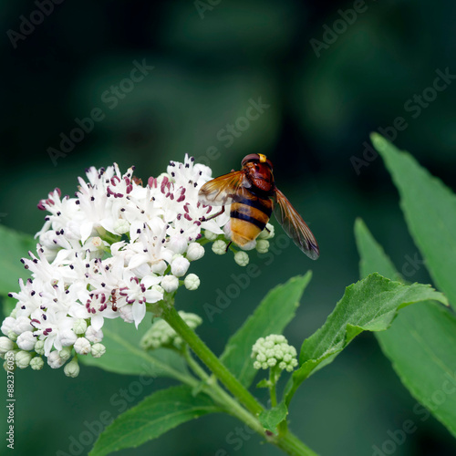
[[[202,317],[196,314],[179,311],[182,320],[195,329],[202,324]],[[144,350],[153,350],[160,347],[174,347],[181,350],[183,340],[165,320],[157,320],[150,326],[147,333],[141,338],[140,347]]]

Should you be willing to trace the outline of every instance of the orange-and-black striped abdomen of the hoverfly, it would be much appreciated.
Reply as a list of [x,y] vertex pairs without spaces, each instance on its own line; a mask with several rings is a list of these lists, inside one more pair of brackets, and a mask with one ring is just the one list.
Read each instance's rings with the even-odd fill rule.
[[254,241],[264,230],[272,212],[273,202],[254,194],[232,202],[230,216],[233,243],[243,246]]

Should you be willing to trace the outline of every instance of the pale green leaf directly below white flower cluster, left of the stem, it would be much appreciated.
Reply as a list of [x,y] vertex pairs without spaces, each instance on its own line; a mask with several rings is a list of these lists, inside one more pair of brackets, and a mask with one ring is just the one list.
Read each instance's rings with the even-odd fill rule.
[[150,377],[185,377],[185,363],[176,352],[167,348],[144,351],[140,338],[150,328],[150,322],[143,321],[138,329],[125,323],[121,318],[105,318],[102,331],[106,353],[101,358],[79,357],[88,366],[103,368],[109,372]]

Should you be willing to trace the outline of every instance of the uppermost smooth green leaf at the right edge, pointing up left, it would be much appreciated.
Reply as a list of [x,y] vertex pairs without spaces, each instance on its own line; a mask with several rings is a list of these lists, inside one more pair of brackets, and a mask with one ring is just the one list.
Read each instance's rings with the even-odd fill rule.
[[399,190],[409,233],[426,260],[433,281],[456,309],[455,195],[409,153],[399,151],[377,133],[372,133],[371,139]]

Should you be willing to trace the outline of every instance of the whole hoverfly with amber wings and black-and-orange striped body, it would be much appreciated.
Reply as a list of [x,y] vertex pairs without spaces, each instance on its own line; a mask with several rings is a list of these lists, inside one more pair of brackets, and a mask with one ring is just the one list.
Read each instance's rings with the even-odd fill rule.
[[244,157],[242,167],[241,171],[229,172],[202,185],[198,193],[200,202],[222,206],[220,212],[203,220],[220,215],[224,206],[231,204],[231,240],[244,247],[264,230],[274,211],[285,233],[316,260],[320,254],[316,238],[284,193],[275,187],[272,162],[261,153],[252,153]]

